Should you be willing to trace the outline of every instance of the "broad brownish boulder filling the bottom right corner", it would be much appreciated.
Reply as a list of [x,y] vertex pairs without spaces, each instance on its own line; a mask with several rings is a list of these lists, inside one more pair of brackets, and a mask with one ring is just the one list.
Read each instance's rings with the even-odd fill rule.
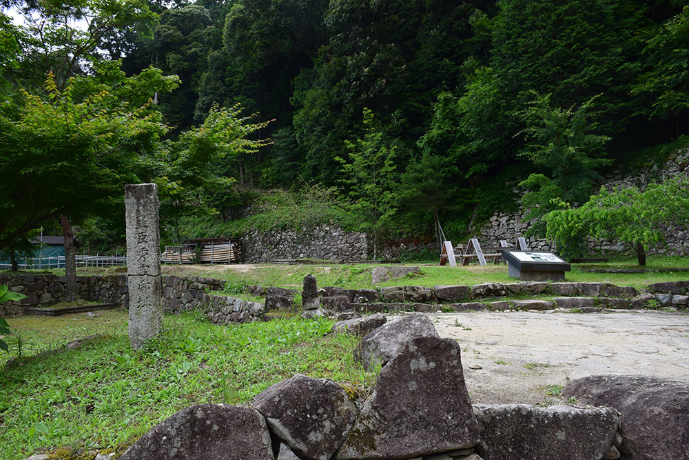
[[624,459],[689,459],[689,383],[640,375],[595,375],[571,381],[564,397],[621,414]]

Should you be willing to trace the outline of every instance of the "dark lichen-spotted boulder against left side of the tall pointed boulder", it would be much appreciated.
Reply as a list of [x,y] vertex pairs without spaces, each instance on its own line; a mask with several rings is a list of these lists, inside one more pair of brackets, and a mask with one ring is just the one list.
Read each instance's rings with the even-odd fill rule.
[[307,460],[329,460],[357,416],[337,383],[302,374],[260,392],[251,406],[263,414],[282,443]]

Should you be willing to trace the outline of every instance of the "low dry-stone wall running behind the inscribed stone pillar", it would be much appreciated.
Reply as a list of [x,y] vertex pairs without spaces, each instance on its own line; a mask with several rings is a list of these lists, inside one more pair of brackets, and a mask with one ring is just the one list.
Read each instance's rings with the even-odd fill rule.
[[[65,276],[54,274],[1,274],[0,284],[27,297],[18,302],[0,305],[0,317],[23,313],[24,307],[47,306],[65,299]],[[263,303],[248,302],[234,297],[206,294],[207,290],[221,290],[224,282],[206,277],[163,277],[163,310],[181,312],[200,310],[214,323],[246,323],[263,319]],[[80,299],[121,303],[129,301],[127,275],[77,277]]]

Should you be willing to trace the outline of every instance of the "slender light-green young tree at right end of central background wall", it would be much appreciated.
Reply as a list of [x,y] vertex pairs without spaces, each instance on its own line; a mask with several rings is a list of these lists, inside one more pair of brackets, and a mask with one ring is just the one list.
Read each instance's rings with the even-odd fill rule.
[[360,230],[373,233],[373,259],[378,257],[378,236],[384,223],[395,212],[395,146],[376,130],[373,112],[364,108],[366,132],[362,139],[345,141],[348,159],[342,164],[342,182],[349,186],[351,212],[361,217]]

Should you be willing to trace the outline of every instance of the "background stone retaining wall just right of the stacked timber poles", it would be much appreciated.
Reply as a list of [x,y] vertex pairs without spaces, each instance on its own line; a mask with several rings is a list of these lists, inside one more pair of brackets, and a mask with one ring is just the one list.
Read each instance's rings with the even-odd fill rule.
[[338,224],[327,224],[315,230],[282,230],[247,232],[242,241],[245,263],[271,262],[280,259],[365,260],[369,241],[362,232],[345,232]]

